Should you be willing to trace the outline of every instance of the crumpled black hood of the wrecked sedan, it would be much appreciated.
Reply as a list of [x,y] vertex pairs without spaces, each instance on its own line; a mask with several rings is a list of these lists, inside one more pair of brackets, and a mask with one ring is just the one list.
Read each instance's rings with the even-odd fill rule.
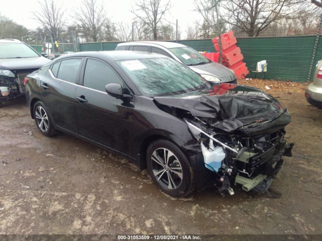
[[212,127],[225,132],[243,131],[247,135],[275,132],[290,123],[287,109],[271,95],[253,87],[217,84],[174,96],[158,96],[159,104],[187,110]]

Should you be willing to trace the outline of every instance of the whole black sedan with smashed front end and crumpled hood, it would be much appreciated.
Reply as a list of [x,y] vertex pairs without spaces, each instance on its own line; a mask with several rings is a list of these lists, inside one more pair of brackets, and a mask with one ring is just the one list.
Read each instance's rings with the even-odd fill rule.
[[260,90],[205,81],[163,55],[81,52],[27,76],[32,118],[147,168],[172,196],[216,186],[267,191],[292,145],[290,116]]

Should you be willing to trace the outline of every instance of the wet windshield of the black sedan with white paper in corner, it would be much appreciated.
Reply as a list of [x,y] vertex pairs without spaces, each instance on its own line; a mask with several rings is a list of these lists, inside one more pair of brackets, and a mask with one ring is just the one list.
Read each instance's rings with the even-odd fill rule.
[[187,93],[209,85],[199,74],[170,58],[117,62],[146,96]]

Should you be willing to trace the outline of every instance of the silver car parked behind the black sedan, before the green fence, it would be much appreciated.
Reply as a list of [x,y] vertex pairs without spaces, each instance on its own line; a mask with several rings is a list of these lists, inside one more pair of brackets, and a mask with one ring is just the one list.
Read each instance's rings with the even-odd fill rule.
[[234,72],[204,57],[198,51],[183,44],[163,41],[127,42],[115,50],[152,52],[173,58],[194,70],[211,82],[237,83]]

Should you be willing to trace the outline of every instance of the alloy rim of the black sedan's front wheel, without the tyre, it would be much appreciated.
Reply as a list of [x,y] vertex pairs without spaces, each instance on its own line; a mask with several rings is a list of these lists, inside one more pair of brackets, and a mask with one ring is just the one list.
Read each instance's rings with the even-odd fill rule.
[[168,189],[176,189],[182,183],[183,171],[176,155],[166,148],[156,149],[151,156],[155,179]]

